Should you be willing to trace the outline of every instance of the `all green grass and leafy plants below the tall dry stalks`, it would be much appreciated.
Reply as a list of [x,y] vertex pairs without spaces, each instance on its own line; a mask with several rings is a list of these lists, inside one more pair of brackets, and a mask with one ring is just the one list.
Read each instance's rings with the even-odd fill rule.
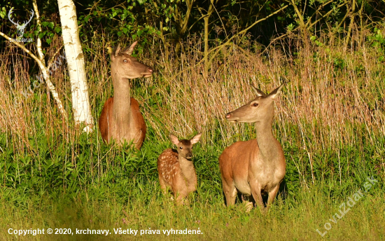
[[[295,133],[294,126],[286,128]],[[149,133],[152,131],[150,128]],[[1,146],[6,146],[6,138],[1,135]],[[11,142],[8,139],[8,145]],[[224,207],[218,168],[221,146],[197,144],[194,160],[198,190],[190,195],[189,206],[176,207],[162,195],[156,168],[156,160],[162,150],[171,145],[169,142],[158,142],[148,135],[141,151],[136,152],[129,146],[105,146],[97,133],[80,135],[73,143],[52,142],[41,133],[41,137],[31,139],[30,144],[36,147],[36,153],[21,155],[8,148],[0,157],[1,240],[16,240],[15,235],[8,234],[8,228],[71,228],[72,232],[76,228],[90,228],[108,229],[111,233],[113,228],[132,228],[139,232],[151,228],[160,233],[171,228],[200,228],[201,235],[151,234],[141,238],[321,240],[316,229],[325,232],[325,223],[330,223],[332,228],[323,238],[331,240],[381,240],[385,236],[382,228],[384,185],[376,171],[383,157],[378,153],[376,157],[376,149],[384,148],[384,137],[378,137],[376,146],[370,145],[365,137],[361,147],[341,146],[339,156],[332,149],[314,153],[314,183],[307,153],[283,143],[288,195],[278,198],[266,216],[260,214],[258,208],[246,213],[239,201],[234,207]],[[362,152],[357,151],[360,149]],[[76,158],[71,160],[73,156]],[[339,176],[339,166],[342,176]],[[347,202],[353,193],[363,188],[367,177],[372,176],[379,182],[342,219],[332,223],[330,219],[339,213],[342,202]],[[27,235],[18,240],[134,238],[137,237],[75,234]]]

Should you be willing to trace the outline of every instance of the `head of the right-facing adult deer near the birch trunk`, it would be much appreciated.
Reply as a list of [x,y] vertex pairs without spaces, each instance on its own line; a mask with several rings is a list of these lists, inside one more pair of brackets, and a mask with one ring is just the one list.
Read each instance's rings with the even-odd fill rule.
[[122,78],[150,77],[153,69],[146,64],[142,64],[135,57],[132,57],[137,41],[130,47],[120,51],[120,44],[111,53],[111,72],[118,74]]

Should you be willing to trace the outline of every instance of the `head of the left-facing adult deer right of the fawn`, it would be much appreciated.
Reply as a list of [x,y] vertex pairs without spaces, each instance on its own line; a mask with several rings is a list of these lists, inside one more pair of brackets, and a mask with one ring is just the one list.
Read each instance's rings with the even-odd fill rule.
[[266,95],[262,90],[258,90],[251,85],[257,97],[235,111],[227,113],[226,119],[230,123],[254,123],[272,120],[274,116],[274,99],[281,93],[282,87],[283,85]]

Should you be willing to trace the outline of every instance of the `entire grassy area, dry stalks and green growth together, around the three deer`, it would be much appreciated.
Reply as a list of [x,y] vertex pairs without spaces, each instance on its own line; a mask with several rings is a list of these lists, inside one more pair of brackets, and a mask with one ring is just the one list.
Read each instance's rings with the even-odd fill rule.
[[[370,36],[370,33],[368,33]],[[109,55],[95,35],[87,61],[90,104],[95,123],[104,101],[113,95]],[[292,41],[293,39],[286,39]],[[328,41],[323,41],[327,43]],[[385,65],[370,41],[346,50],[309,43],[293,55],[279,46],[264,55],[223,49],[209,78],[202,76],[199,43],[186,46],[180,62],[146,53],[153,78],[132,81],[148,127],[144,146],[133,151],[102,142],[95,128],[79,134],[71,119],[71,87],[64,65],[52,74],[69,113],[64,121],[45,85],[13,106],[29,71],[15,48],[0,55],[0,240],[130,240],[128,235],[8,234],[9,228],[169,230],[200,228],[202,235],[142,235],[144,240],[381,240],[385,231]],[[85,46],[88,43],[85,43]],[[156,55],[156,56],[153,56]],[[94,60],[94,61],[93,61]],[[97,61],[96,61],[97,60]],[[237,140],[255,138],[253,125],[232,124],[224,114],[253,98],[249,84],[265,92],[286,80],[276,100],[273,132],[286,157],[287,195],[266,216],[246,213],[237,200],[224,207],[218,156]],[[3,91],[4,90],[4,91]],[[81,130],[81,128],[80,128]],[[194,147],[198,190],[190,205],[176,207],[164,197],[156,167],[171,147],[172,132],[189,138],[203,132]],[[337,223],[339,214],[367,177],[372,186]],[[325,224],[326,223],[326,224]],[[330,224],[328,224],[330,223]],[[330,228],[323,237],[325,227]],[[140,235],[140,233],[139,233]]]

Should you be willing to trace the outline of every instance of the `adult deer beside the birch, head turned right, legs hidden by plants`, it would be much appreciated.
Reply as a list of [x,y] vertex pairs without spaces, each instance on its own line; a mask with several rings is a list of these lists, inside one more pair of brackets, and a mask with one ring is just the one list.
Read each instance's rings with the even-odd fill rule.
[[122,51],[118,45],[111,53],[114,97],[107,99],[103,106],[99,130],[106,143],[111,142],[111,139],[119,144],[132,141],[140,149],[146,137],[146,123],[139,111],[139,103],[130,97],[130,79],[150,77],[153,69],[130,56],[136,45],[137,41]]

